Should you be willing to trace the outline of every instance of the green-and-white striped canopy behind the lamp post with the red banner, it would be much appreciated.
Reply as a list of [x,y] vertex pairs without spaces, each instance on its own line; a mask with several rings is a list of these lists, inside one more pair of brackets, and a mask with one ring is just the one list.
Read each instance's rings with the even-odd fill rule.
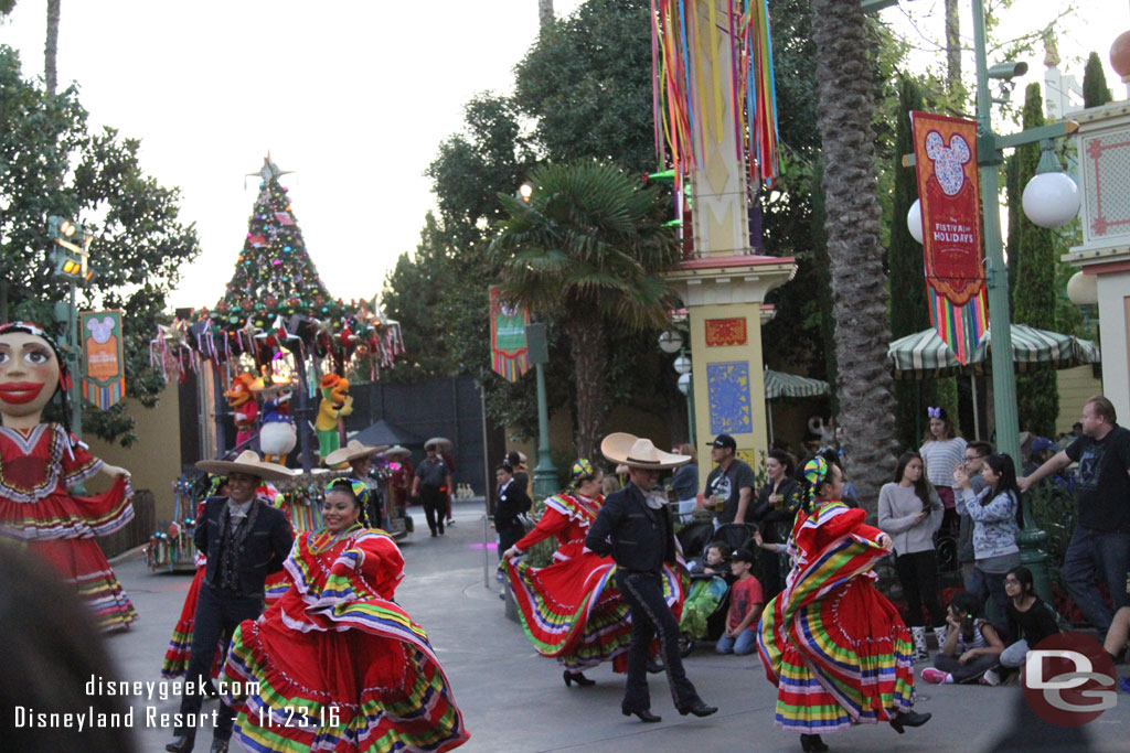
[[[887,349],[887,362],[894,370],[896,379],[984,374],[992,367],[991,347],[990,330],[981,338],[970,362],[962,366],[954,357],[954,351],[938,335],[937,330],[930,329],[890,343]],[[1089,340],[1037,330],[1026,324],[1012,325],[1012,362],[1019,371],[1041,364],[1066,369],[1083,364],[1098,364],[1101,360],[1098,347]]]

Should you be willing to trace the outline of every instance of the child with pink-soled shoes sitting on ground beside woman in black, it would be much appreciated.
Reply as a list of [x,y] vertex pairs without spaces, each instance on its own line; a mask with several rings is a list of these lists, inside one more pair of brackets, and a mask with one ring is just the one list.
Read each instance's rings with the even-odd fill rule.
[[922,671],[922,680],[939,685],[972,682],[1000,663],[1005,642],[981,616],[981,607],[974,594],[954,594],[946,611],[946,641],[933,657],[933,667]]

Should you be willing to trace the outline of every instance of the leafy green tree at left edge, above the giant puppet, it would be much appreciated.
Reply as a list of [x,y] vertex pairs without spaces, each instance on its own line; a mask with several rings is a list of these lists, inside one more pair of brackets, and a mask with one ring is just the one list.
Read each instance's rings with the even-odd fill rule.
[[[200,251],[194,227],[177,221],[177,190],[141,172],[139,141],[108,128],[89,132],[73,87],[47,96],[24,79],[6,46],[0,103],[0,317],[53,322],[53,305],[69,286],[47,259],[47,216],[86,221],[97,275],[79,289],[79,305],[124,309],[127,395],[155,405],[163,382],[149,367],[154,322],[182,265]],[[123,445],[136,438],[122,405],[86,410],[84,427]]]

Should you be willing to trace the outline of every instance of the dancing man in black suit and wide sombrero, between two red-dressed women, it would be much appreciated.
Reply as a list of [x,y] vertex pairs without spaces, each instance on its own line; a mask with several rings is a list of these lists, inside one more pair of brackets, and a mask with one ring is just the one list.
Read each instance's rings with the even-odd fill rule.
[[597,554],[611,554],[616,560],[616,585],[632,610],[628,680],[620,711],[641,721],[662,720],[651,712],[647,693],[647,655],[658,636],[676,710],[684,716],[710,716],[718,709],[698,698],[683,669],[679,622],[663,598],[663,564],[676,564],[676,543],[667,494],[655,487],[661,470],[683,465],[690,457],[661,452],[649,439],[619,432],[605,437],[600,452],[627,465],[631,478],[605,499],[584,540]]

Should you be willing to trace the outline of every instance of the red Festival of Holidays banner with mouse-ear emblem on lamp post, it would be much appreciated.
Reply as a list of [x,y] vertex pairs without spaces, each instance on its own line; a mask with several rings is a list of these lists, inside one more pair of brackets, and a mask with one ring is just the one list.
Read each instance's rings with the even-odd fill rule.
[[912,112],[930,321],[962,364],[988,329],[975,121]]

